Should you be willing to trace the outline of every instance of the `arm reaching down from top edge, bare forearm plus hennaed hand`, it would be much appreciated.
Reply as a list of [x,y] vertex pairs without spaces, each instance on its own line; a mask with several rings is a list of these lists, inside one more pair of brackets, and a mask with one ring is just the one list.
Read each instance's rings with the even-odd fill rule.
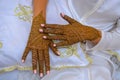
[[[42,36],[44,34],[39,33],[39,28],[42,29],[40,24],[45,23],[46,18],[46,5],[47,0],[34,0],[33,1],[33,22],[31,27],[30,36],[27,46],[22,56],[22,62],[25,62],[29,51],[32,52],[32,67],[33,72],[37,73],[37,65],[39,66],[39,75],[43,77],[44,68],[45,73],[50,72],[50,59],[49,59],[49,47],[58,56],[59,52],[57,48],[53,47],[51,40],[44,40]],[[45,34],[47,35],[47,34]]]

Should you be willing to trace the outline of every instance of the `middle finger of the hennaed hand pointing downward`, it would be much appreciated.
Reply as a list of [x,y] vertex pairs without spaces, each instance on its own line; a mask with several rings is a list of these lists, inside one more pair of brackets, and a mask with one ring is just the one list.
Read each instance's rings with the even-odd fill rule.
[[43,75],[43,69],[44,69],[44,56],[43,56],[43,50],[38,50],[38,59],[39,59],[39,73],[42,77]]

